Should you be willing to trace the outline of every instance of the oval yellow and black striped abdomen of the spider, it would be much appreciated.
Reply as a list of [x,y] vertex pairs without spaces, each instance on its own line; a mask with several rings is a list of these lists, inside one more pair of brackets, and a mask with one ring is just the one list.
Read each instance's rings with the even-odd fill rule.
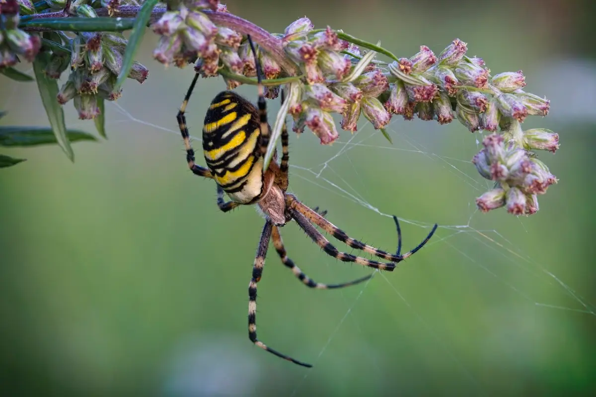
[[263,159],[256,108],[235,92],[213,99],[203,126],[203,152],[215,182],[232,201],[250,204],[263,189]]

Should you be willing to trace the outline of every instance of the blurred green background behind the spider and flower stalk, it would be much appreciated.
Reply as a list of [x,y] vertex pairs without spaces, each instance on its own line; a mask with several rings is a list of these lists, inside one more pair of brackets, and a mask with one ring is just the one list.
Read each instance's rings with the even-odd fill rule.
[[[148,33],[138,60],[150,76],[142,86],[129,80],[108,104],[107,141],[77,143],[75,164],[57,146],[3,149],[29,160],[0,172],[2,395],[596,393],[593,8],[556,0],[228,2],[270,32],[307,15],[316,27],[380,39],[400,57],[422,44],[438,54],[459,37],[493,73],[522,69],[527,90],[551,99],[551,114],[524,127],[560,134],[560,151],[540,155],[560,182],[529,218],[474,209],[490,187],[469,163],[482,137],[459,123],[396,117],[393,145],[365,123],[333,146],[292,135],[291,192],[327,209],[350,235],[395,249],[393,221],[382,214],[396,214],[409,249],[440,225],[395,272],[340,291],[307,289],[270,247],[259,338],[311,370],[247,338],[263,221],[250,207],[223,214],[215,185],[188,172],[175,114],[193,71],[153,61],[156,36]],[[0,87],[3,124],[47,125],[35,83],[0,76]],[[191,135],[200,136],[223,87],[200,81]],[[254,87],[239,91],[256,98]],[[278,102],[269,106],[273,114]],[[70,127],[95,133],[72,103],[65,109]],[[315,280],[368,272],[327,257],[295,224],[282,232],[290,257]]]

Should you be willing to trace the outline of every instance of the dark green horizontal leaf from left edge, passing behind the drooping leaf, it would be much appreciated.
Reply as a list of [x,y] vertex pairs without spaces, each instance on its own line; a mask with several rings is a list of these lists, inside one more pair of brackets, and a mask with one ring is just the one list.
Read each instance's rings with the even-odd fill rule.
[[[80,130],[67,130],[69,142],[97,141],[97,138]],[[49,127],[0,126],[0,146],[37,146],[58,143],[54,130]]]

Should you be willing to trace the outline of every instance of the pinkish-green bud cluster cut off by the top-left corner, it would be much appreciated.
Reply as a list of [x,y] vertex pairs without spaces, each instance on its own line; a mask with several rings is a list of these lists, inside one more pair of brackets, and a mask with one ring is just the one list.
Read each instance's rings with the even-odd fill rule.
[[0,69],[17,64],[20,58],[32,62],[41,48],[41,39],[18,29],[19,15],[35,12],[30,0],[0,1]]

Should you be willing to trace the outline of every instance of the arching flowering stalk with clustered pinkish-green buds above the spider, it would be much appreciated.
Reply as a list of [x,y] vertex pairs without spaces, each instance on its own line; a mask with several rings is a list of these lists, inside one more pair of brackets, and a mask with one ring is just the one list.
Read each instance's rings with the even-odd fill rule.
[[[30,0],[18,0],[21,13],[29,20],[135,17],[143,3],[46,0],[45,8],[54,12],[38,14]],[[14,20],[4,14],[2,29],[17,29],[18,15]],[[291,23],[283,33],[271,34],[229,13],[218,0],[169,0],[166,7],[153,8],[150,21],[151,30],[160,36],[153,52],[157,61],[177,67],[194,63],[204,77],[224,77],[228,89],[256,83],[254,54],[247,42],[247,35],[252,37],[264,73],[265,95],[275,98],[282,87],[288,93],[272,130],[266,163],[287,113],[294,120],[295,132],[309,129],[325,145],[339,137],[334,113],[342,116],[340,127],[344,130],[356,131],[364,115],[384,134],[393,115],[402,115],[405,120],[418,117],[440,124],[458,120],[470,132],[483,129],[493,133],[483,140],[485,148],[473,159],[479,173],[495,181],[495,189],[477,199],[482,211],[506,207],[513,214],[533,214],[538,210],[536,195],[557,181],[535,151],[555,152],[558,135],[546,129],[522,129],[529,115],[548,114],[549,101],[524,92],[522,71],[492,76],[481,58],[466,55],[467,45],[459,39],[439,55],[421,46],[412,57],[400,58],[380,43],[374,45],[331,27],[314,29],[306,17]],[[38,24],[35,29],[43,28]],[[15,54],[35,57],[39,45],[30,37],[36,36],[25,35],[6,35],[2,30],[0,60],[14,64]],[[126,61],[126,40],[119,33],[107,32],[52,35],[51,40],[44,37],[42,45],[42,51],[52,51],[48,76],[58,77],[67,67],[72,68],[58,100],[75,99],[82,118],[95,117],[94,96],[109,100],[120,96],[114,80]],[[7,42],[13,44],[7,46]],[[20,52],[14,50],[15,43]],[[63,45],[70,47],[69,57],[60,51]],[[5,54],[3,48],[13,52]],[[378,54],[389,62],[375,59]],[[146,76],[147,69],[139,64],[129,75],[139,82]]]

